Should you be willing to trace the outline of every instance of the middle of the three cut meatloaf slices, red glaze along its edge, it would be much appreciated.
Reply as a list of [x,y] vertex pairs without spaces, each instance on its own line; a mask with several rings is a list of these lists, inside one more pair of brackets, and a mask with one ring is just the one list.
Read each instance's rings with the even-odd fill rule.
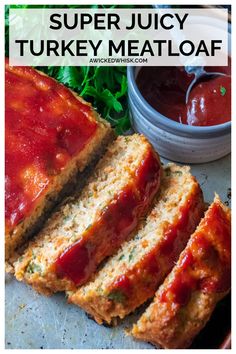
[[81,306],[98,323],[123,318],[154,296],[203,213],[202,191],[189,167],[165,166],[160,193],[148,217],[91,282],[68,293],[69,302]]

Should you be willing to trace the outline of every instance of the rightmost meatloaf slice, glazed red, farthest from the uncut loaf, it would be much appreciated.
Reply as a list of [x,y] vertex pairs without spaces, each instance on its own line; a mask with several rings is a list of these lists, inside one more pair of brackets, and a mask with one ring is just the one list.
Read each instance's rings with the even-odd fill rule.
[[230,290],[231,213],[219,199],[207,210],[178,263],[132,334],[164,348],[186,348]]

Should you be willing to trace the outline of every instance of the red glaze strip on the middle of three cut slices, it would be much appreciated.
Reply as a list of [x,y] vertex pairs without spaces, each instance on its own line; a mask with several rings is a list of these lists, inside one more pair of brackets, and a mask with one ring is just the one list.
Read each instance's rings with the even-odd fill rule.
[[[154,295],[158,285],[171,271],[202,215],[201,191],[197,188],[186,205],[180,208],[180,215],[175,224],[166,228],[161,244],[157,244],[134,268],[123,275],[129,279],[129,293],[126,291],[123,302],[129,302],[129,307],[133,303],[136,307],[137,303],[141,304]],[[122,284],[120,286],[117,279],[110,285],[110,292],[123,292]]]

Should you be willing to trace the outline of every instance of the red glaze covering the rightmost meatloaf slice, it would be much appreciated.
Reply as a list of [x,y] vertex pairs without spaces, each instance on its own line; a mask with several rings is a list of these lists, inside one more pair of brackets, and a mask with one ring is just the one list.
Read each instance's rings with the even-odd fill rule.
[[193,291],[224,292],[230,288],[230,221],[214,203],[183,252],[174,279],[160,300],[185,305]]

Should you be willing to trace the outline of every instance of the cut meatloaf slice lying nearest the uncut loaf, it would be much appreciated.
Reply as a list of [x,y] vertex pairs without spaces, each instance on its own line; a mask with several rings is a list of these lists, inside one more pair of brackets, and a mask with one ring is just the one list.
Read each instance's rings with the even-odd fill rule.
[[15,263],[16,278],[43,293],[75,290],[137,226],[159,188],[161,171],[143,136],[118,137],[82,194],[52,216]]

